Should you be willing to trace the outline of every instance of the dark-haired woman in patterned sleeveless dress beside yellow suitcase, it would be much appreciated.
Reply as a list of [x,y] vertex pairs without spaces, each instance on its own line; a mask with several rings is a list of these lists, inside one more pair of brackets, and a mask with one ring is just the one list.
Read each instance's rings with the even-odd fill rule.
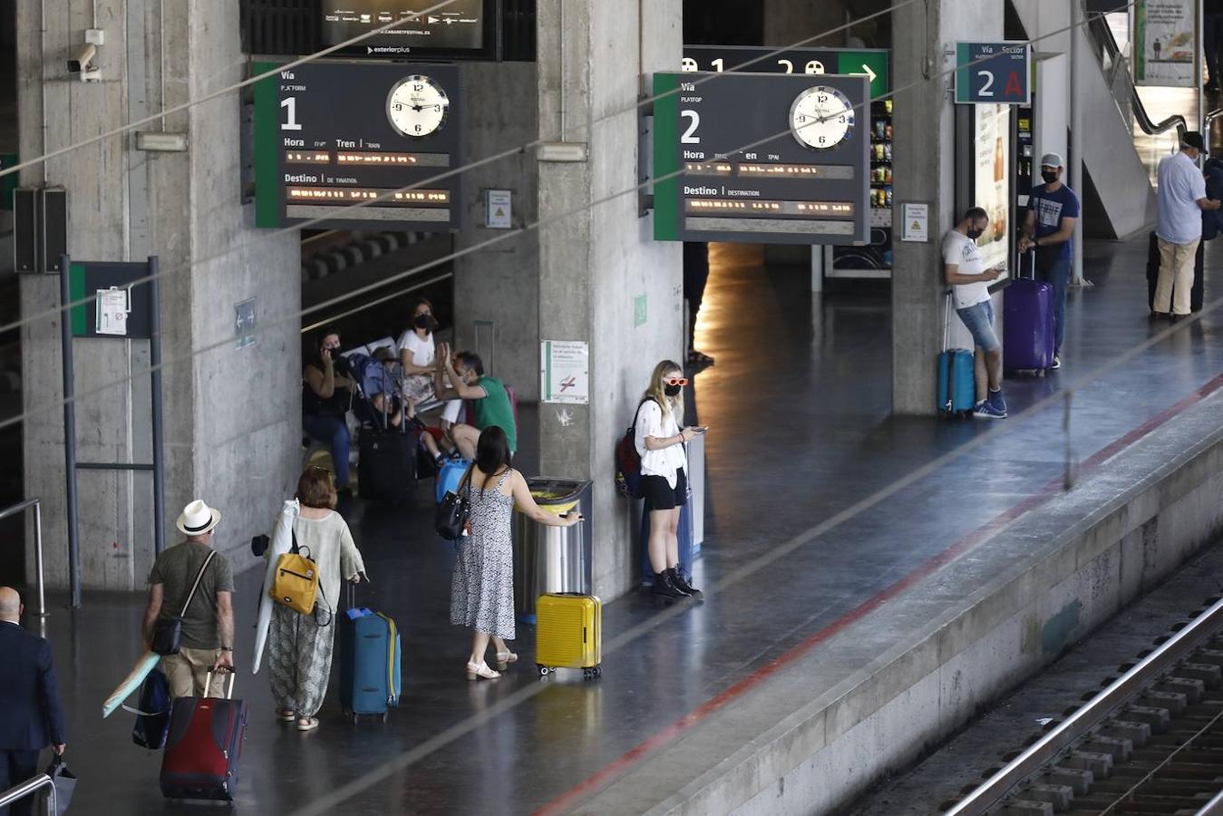
[[497,668],[504,672],[519,656],[505,641],[514,640],[514,547],[510,515],[514,505],[532,521],[552,527],[571,527],[582,520],[576,510],[559,516],[534,503],[522,475],[510,467],[510,443],[498,426],[479,434],[476,461],[462,488],[471,497],[468,535],[459,540],[454,579],[450,582],[450,623],[472,630],[467,679],[501,677],[488,668],[484,652],[489,640],[497,648]]

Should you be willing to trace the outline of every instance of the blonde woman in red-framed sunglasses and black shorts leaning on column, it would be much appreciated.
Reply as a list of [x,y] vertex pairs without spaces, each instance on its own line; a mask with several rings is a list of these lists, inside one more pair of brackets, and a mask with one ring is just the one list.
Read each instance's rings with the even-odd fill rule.
[[687,455],[684,444],[703,428],[680,428],[687,378],[679,365],[664,360],[654,366],[649,388],[641,398],[635,422],[641,482],[649,513],[649,564],[654,571],[654,598],[673,603],[698,595],[680,564],[680,508],[687,502]]

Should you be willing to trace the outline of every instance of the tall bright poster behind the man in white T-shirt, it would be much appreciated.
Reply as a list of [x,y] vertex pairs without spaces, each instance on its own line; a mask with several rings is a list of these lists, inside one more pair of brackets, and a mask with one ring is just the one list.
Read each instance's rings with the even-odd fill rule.
[[977,239],[987,267],[1007,262],[1010,246],[1010,105],[976,105],[972,201],[989,214]]

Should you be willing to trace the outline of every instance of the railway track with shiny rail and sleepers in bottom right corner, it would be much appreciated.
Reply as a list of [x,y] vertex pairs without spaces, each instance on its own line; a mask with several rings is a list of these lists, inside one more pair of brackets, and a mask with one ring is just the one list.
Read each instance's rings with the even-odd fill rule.
[[948,816],[1223,815],[1223,601],[1101,685]]

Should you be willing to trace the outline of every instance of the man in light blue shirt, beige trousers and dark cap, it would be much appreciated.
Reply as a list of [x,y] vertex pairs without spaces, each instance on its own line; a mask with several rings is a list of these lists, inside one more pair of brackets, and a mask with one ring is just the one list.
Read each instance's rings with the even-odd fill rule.
[[1189,314],[1194,287],[1194,258],[1202,241],[1202,210],[1218,209],[1219,202],[1206,197],[1206,179],[1197,168],[1205,154],[1202,135],[1189,131],[1180,150],[1159,161],[1158,214],[1155,234],[1159,242],[1159,281],[1155,289],[1155,317],[1178,321]]

